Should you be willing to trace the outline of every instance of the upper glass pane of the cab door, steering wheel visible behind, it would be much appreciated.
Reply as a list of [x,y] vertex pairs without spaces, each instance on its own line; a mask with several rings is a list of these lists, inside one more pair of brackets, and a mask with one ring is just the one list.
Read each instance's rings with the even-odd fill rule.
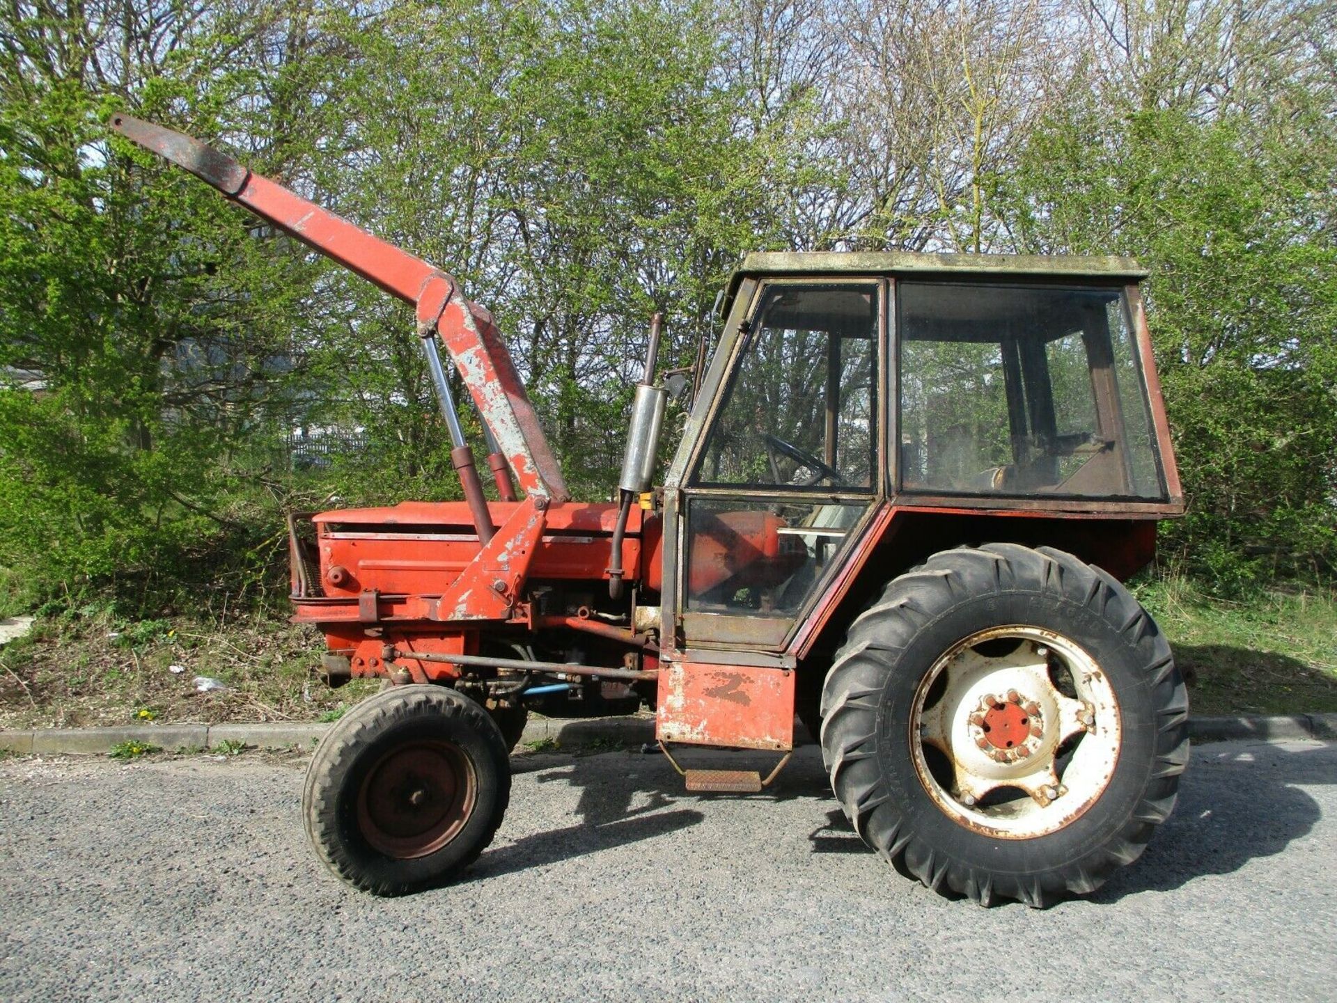
[[877,288],[763,294],[693,483],[868,490],[877,437]]

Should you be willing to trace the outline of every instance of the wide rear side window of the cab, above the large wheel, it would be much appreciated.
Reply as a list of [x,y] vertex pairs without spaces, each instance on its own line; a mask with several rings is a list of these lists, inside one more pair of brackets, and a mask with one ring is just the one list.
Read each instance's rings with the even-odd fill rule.
[[901,282],[904,490],[1165,495],[1120,288]]

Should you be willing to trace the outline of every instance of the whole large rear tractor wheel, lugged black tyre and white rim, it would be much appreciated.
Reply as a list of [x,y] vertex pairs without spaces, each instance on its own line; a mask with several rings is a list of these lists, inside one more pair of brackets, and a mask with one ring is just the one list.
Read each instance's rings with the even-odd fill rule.
[[1155,622],[1076,557],[931,557],[854,621],[822,759],[898,871],[981,906],[1043,907],[1136,860],[1174,808],[1187,696]]

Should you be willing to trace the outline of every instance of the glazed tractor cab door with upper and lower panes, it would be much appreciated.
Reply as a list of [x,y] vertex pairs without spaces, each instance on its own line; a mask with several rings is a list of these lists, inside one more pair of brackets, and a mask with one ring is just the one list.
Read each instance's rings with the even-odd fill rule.
[[670,514],[686,648],[782,650],[874,508],[884,300],[878,279],[763,282],[721,345]]

